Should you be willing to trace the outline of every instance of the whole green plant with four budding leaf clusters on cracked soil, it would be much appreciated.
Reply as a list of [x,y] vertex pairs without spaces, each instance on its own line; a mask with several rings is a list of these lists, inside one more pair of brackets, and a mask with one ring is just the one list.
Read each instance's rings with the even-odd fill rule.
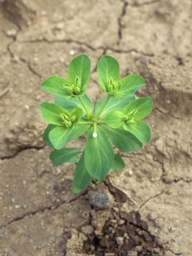
[[[85,54],[70,62],[68,79],[51,76],[41,85],[43,90],[57,96],[55,103],[41,104],[42,116],[49,123],[43,139],[47,146],[54,148],[50,154],[54,166],[77,163],[73,180],[75,194],[92,182],[105,180],[111,171],[124,168],[123,159],[114,154],[112,145],[127,152],[141,149],[142,143],[150,140],[150,128],[141,119],[150,114],[153,101],[134,96],[146,85],[145,80],[134,74],[119,79],[119,64],[108,55],[99,60],[97,71],[107,97],[95,107],[85,94],[91,73],[91,61]],[[83,134],[85,148],[63,148]]]

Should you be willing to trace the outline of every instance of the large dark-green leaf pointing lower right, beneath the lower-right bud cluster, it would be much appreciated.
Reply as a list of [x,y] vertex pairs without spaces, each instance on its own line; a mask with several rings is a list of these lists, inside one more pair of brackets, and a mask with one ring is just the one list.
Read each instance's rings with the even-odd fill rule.
[[101,129],[122,152],[136,151],[142,148],[142,143],[130,132],[123,129],[112,129],[107,125],[101,125]]

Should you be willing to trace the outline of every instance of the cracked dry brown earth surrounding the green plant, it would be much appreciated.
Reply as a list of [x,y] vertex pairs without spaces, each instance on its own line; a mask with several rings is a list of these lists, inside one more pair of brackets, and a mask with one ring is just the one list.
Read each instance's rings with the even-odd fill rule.
[[[1,0],[0,256],[192,255],[191,13],[190,0]],[[151,142],[93,189],[109,190],[105,210],[91,189],[71,193],[74,164],[53,167],[42,140],[39,103],[53,97],[39,85],[82,52],[94,102],[108,53],[121,76],[145,77],[138,95],[155,106]]]

